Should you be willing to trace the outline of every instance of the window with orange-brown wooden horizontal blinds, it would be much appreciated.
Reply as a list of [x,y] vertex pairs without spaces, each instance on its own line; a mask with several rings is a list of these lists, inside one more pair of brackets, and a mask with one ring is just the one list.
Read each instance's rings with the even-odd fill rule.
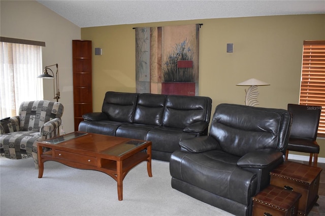
[[299,104],[321,105],[319,137],[325,137],[325,41],[304,41]]

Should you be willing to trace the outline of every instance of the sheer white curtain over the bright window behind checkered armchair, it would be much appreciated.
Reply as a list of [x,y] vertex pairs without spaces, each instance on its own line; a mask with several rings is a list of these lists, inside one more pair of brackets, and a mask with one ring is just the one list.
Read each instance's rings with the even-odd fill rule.
[[22,101],[42,100],[42,47],[0,42],[0,119],[18,115]]

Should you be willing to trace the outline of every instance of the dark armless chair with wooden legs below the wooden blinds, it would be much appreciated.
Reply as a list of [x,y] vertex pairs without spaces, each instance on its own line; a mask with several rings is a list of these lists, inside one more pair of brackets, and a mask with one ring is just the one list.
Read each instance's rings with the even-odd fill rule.
[[317,166],[319,146],[316,142],[321,106],[288,104],[288,111],[293,116],[290,138],[285,159],[289,151],[309,153],[309,165],[314,155],[314,166]]

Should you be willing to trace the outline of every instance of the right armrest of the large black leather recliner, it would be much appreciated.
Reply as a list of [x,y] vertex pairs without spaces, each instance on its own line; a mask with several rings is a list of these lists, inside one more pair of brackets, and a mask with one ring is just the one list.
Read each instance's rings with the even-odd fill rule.
[[263,169],[272,165],[280,158],[283,158],[283,154],[279,150],[263,149],[247,153],[237,161],[237,165],[240,167]]

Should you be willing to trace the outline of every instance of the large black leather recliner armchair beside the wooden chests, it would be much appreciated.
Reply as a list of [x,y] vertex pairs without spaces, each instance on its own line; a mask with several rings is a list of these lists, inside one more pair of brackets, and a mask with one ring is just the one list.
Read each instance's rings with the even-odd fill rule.
[[251,215],[252,197],[284,160],[286,110],[219,104],[209,135],[183,139],[170,159],[172,187],[235,215]]

